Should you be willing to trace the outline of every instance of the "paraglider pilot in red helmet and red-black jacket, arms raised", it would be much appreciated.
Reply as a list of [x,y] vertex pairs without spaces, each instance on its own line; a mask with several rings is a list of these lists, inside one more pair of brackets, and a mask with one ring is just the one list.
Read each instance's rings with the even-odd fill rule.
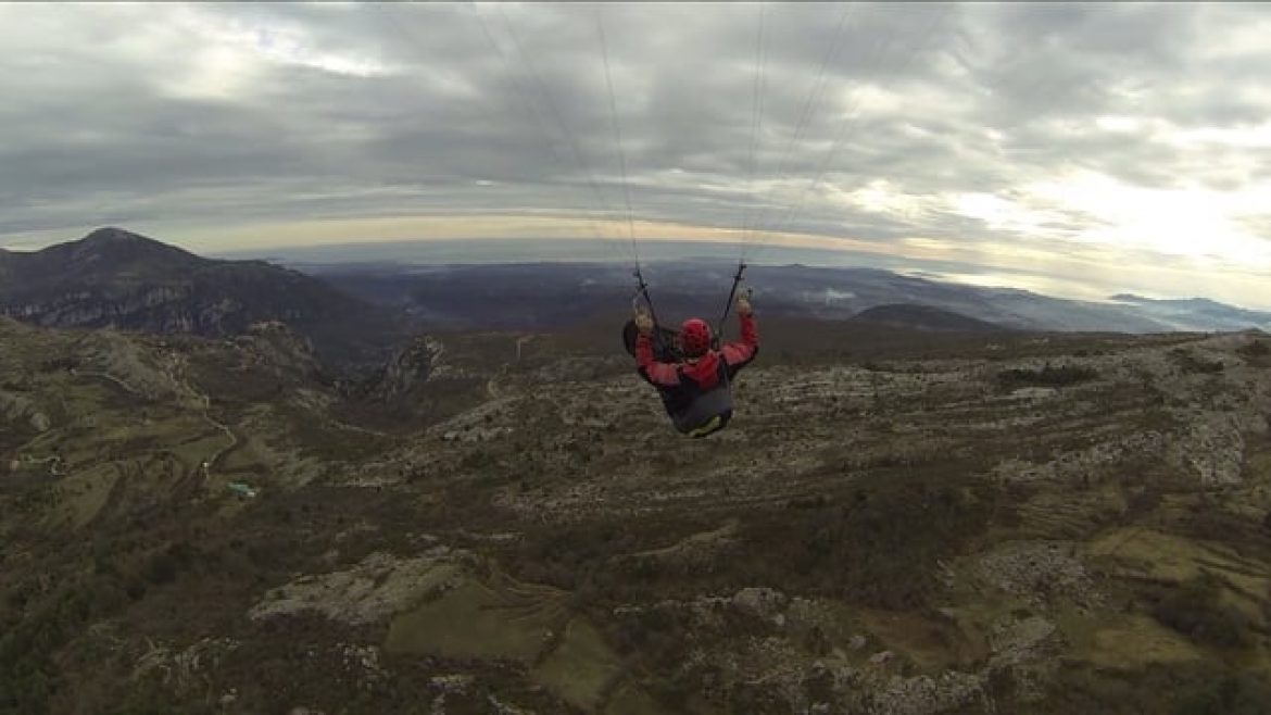
[[[636,363],[638,371],[662,396],[675,429],[690,438],[719,431],[732,417],[732,380],[759,352],[759,330],[750,298],[737,296],[741,341],[712,349],[710,326],[690,318],[680,326],[681,360],[666,361],[655,355],[653,318],[636,310]],[[663,328],[665,330],[665,328]]]

